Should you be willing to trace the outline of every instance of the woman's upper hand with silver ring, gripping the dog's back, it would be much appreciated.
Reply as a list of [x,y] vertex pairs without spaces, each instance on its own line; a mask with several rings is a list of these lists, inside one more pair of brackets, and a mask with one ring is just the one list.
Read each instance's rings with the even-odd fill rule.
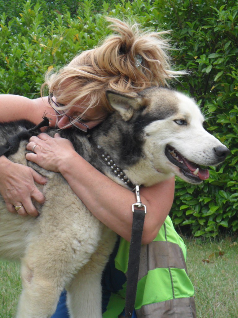
[[26,149],[34,151],[26,154],[27,160],[55,172],[59,172],[61,164],[67,162],[72,152],[75,152],[72,143],[68,139],[61,138],[58,133],[54,138],[44,133],[37,137],[32,136]]

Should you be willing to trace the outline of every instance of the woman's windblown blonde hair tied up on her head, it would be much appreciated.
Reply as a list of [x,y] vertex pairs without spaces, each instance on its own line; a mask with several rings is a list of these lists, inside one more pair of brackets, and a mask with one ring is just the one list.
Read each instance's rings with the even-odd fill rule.
[[[46,74],[45,84],[64,111],[73,106],[101,107],[112,112],[106,89],[140,92],[150,86],[167,86],[167,80],[184,72],[170,69],[169,49],[161,34],[141,31],[138,24],[129,25],[107,18],[114,34],[94,49],[82,52],[56,73]],[[136,55],[141,64],[136,66]],[[84,112],[85,112],[84,111]],[[79,115],[80,118],[80,115]],[[77,119],[79,119],[77,118]]]

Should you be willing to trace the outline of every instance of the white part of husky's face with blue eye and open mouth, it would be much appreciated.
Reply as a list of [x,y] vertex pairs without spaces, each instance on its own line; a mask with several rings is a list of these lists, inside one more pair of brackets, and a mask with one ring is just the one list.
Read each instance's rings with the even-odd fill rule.
[[153,154],[157,171],[173,172],[187,182],[201,183],[208,179],[209,172],[200,165],[219,164],[228,149],[203,128],[204,118],[194,100],[181,93],[174,94],[177,111],[145,128],[148,136],[145,148]]

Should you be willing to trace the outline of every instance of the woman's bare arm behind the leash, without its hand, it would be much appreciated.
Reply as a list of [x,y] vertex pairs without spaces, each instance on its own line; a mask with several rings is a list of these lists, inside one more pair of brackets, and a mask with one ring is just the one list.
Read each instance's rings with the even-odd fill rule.
[[[62,164],[60,172],[89,211],[129,241],[135,193],[118,185],[82,159],[77,154],[71,156],[67,164]],[[149,244],[155,239],[171,209],[174,178],[149,188],[141,188],[140,196],[147,208],[142,244]]]

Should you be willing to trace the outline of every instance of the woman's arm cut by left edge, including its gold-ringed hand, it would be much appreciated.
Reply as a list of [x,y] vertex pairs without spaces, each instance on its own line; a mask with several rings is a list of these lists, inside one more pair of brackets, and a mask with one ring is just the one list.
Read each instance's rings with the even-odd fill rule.
[[[42,121],[44,112],[50,114],[53,110],[48,107],[47,98],[30,100],[17,95],[0,95],[1,121],[27,119],[35,124]],[[52,118],[54,118],[52,116]],[[13,163],[5,156],[0,156],[0,193],[10,212],[16,212],[14,206],[23,205],[18,210],[21,215],[38,215],[31,199],[43,203],[43,194],[36,188],[35,182],[44,184],[46,178],[33,169]]]

